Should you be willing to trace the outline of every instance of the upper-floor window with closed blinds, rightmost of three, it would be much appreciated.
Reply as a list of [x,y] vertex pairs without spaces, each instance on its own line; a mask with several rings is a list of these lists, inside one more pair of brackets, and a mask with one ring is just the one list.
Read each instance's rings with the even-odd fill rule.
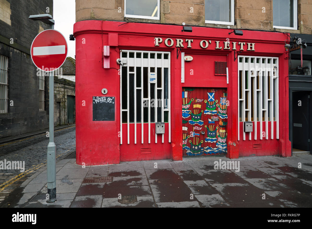
[[273,0],[273,27],[297,29],[297,0]]

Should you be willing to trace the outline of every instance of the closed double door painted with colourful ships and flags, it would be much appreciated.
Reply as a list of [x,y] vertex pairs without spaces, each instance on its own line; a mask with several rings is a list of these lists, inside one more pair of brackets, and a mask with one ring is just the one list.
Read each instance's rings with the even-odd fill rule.
[[183,156],[227,153],[225,89],[184,88],[182,118]]

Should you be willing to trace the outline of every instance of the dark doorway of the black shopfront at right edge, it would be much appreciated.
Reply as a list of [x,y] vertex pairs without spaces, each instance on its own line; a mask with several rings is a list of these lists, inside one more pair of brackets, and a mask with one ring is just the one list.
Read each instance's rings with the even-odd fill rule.
[[293,152],[310,152],[310,91],[292,92]]

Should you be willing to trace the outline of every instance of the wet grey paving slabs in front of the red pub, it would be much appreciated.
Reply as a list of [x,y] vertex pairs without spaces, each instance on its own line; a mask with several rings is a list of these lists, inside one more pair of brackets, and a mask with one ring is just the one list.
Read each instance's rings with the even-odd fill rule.
[[[214,169],[220,159],[239,161],[239,171]],[[312,155],[185,157],[85,168],[68,158],[56,166],[55,203],[46,203],[42,170],[1,207],[312,207]]]

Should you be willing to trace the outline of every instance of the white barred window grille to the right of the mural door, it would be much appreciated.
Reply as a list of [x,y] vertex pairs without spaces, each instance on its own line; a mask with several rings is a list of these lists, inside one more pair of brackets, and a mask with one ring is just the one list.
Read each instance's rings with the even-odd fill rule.
[[[274,139],[274,125],[276,125],[276,139],[279,138],[279,100],[278,100],[278,58],[239,56],[238,61],[238,140],[240,130],[239,124],[244,121],[254,123],[253,132],[249,132],[257,140],[268,139],[268,124],[271,123],[271,139]],[[263,127],[263,122],[265,126]],[[257,130],[257,123],[260,129]],[[240,132],[241,131],[241,132]]]

